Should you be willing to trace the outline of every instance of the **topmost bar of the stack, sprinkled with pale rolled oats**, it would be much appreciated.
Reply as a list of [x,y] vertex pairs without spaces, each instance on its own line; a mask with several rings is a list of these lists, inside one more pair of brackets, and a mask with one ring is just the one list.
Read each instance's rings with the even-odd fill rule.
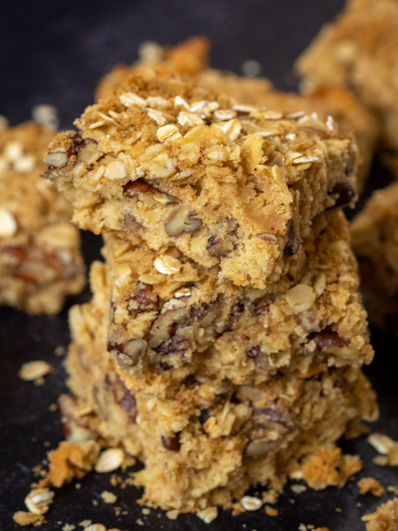
[[95,233],[174,245],[236,285],[288,268],[312,219],[356,199],[358,149],[332,120],[239,105],[161,66],[86,108],[45,177]]

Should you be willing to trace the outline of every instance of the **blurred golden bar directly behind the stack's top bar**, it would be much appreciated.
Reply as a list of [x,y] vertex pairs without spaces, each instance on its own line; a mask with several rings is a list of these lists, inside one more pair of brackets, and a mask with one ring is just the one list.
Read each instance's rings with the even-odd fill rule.
[[[195,83],[209,90],[223,93],[230,98],[249,105],[258,105],[277,110],[283,114],[316,112],[321,120],[332,116],[344,133],[353,132],[358,143],[360,161],[358,167],[358,189],[362,189],[369,173],[370,163],[379,136],[379,120],[360,104],[359,100],[343,86],[318,88],[311,94],[297,95],[292,92],[275,90],[272,83],[265,78],[245,78],[207,68],[209,42],[205,38],[194,37],[174,48],[160,48],[160,55],[155,57],[164,68],[189,76]],[[179,62],[175,61],[175,57]],[[98,99],[115,95],[133,74],[154,76],[154,58],[142,57],[132,66],[117,65],[103,78],[97,89]]]

